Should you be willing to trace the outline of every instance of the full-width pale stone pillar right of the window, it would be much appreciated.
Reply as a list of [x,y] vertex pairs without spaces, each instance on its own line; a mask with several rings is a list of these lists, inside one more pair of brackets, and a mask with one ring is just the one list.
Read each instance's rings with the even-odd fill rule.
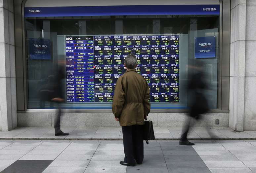
[[231,0],[230,122],[256,130],[256,1]]

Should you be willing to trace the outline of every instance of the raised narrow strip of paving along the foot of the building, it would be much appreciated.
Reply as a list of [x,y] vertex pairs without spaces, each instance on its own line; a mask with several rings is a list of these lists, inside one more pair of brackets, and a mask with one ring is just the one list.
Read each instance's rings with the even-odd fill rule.
[[[119,127],[64,127],[68,136],[55,136],[52,127],[18,127],[9,132],[0,131],[0,139],[65,139],[65,140],[121,140]],[[182,127],[154,127],[157,140],[178,140]],[[210,134],[210,135],[209,135]],[[256,139],[256,131],[235,132],[227,127],[192,127],[188,137],[203,139]]]

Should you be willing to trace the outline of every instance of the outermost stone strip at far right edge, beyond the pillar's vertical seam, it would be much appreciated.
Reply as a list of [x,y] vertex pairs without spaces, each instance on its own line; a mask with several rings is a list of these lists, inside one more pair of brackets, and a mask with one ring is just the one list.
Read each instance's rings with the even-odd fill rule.
[[244,130],[256,130],[256,1],[246,1]]

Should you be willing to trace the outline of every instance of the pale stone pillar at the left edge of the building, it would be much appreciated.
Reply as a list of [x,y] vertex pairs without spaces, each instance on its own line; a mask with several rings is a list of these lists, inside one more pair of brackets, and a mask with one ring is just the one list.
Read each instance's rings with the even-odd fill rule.
[[0,0],[0,129],[17,127],[14,4]]

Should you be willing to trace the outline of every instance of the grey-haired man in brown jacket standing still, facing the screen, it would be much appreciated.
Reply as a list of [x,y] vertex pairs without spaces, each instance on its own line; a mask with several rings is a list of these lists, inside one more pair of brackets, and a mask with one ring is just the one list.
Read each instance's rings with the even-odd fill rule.
[[126,72],[116,82],[112,111],[123,132],[125,157],[120,164],[135,166],[136,162],[142,164],[144,157],[143,125],[150,111],[150,95],[146,80],[135,70],[137,58],[128,55],[124,66]]

